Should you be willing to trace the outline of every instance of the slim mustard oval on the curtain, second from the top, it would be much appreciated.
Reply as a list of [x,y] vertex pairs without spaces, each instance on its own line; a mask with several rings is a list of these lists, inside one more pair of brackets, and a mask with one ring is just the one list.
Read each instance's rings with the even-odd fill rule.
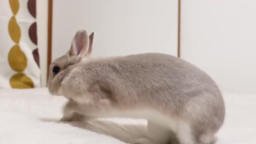
[[20,31],[20,26],[18,25],[16,18],[14,16],[12,16],[12,18],[9,21],[8,32],[12,40],[16,44],[18,44],[20,42],[21,31]]

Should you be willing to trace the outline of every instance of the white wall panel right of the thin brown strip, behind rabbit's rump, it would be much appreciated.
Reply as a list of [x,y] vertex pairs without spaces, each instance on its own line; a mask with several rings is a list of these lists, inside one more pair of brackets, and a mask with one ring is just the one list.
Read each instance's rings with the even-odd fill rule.
[[223,91],[256,94],[256,0],[182,0],[181,57]]

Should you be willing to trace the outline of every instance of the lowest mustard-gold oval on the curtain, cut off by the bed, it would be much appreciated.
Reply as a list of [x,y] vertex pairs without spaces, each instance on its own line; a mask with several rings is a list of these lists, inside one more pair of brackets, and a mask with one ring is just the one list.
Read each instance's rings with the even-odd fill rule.
[[31,80],[31,78],[22,73],[14,74],[10,78],[9,83],[12,88],[34,88],[34,82]]

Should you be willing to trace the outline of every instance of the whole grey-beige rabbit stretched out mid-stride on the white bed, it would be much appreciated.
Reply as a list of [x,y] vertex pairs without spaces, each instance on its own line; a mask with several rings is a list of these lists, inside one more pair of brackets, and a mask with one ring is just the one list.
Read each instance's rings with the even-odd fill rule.
[[[62,121],[143,118],[138,144],[214,144],[225,118],[220,89],[193,64],[163,53],[90,58],[94,32],[78,30],[49,68],[48,90],[69,101]],[[110,48],[111,49],[111,48]]]

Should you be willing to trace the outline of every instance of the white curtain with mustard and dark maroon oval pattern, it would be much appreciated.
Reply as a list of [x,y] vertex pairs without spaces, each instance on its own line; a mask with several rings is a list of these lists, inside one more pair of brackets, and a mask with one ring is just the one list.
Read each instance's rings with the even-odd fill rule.
[[1,0],[0,88],[40,85],[36,0]]

